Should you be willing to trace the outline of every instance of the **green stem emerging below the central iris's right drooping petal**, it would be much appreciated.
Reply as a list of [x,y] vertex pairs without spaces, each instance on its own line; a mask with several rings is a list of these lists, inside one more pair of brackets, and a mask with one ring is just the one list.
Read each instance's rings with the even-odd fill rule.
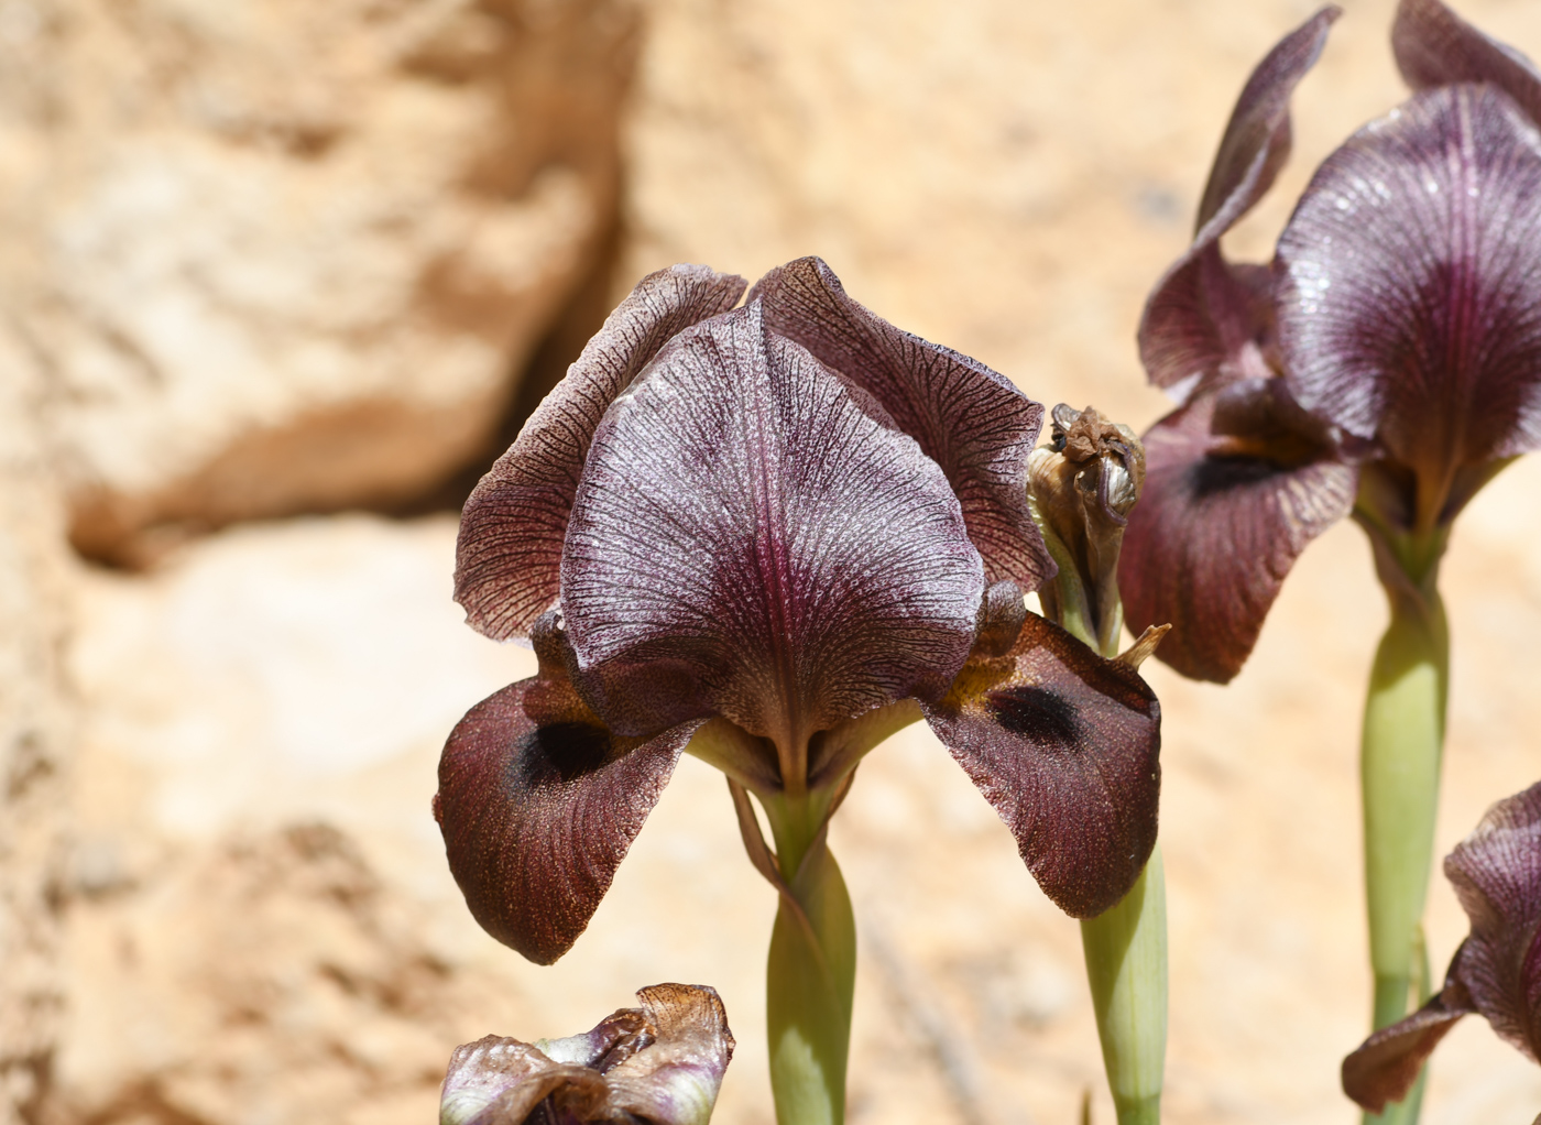
[[1080,923],[1119,1125],[1160,1122],[1167,1066],[1167,874],[1160,845],[1117,906]]

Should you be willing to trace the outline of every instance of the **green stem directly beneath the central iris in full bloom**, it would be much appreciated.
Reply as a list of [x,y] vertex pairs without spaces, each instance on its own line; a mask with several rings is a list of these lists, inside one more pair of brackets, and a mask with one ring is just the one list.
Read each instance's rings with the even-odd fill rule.
[[778,1125],[840,1125],[857,976],[851,895],[821,826],[829,791],[764,800],[787,892],[770,931],[766,1023]]

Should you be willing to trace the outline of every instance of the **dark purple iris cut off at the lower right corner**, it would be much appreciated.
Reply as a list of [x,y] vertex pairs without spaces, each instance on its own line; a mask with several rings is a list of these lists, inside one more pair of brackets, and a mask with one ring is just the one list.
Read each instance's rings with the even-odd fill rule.
[[1541,784],[1489,809],[1445,857],[1445,877],[1472,934],[1444,988],[1344,1059],[1344,1093],[1371,1113],[1407,1096],[1424,1060],[1469,1012],[1541,1062]]

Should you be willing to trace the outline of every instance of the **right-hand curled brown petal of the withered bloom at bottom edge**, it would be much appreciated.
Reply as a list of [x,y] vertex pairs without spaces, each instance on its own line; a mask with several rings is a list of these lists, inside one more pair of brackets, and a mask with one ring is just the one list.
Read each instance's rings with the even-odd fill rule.
[[606,1071],[610,1105],[656,1125],[706,1125],[734,1057],[717,989],[653,985],[636,994],[655,1042]]

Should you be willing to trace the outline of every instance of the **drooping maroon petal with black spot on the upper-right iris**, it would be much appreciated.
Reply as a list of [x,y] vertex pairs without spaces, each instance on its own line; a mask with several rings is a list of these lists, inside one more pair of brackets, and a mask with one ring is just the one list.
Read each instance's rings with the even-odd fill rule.
[[[1123,613],[1136,633],[1170,623],[1156,655],[1194,680],[1241,672],[1294,559],[1353,507],[1355,468],[1313,441],[1277,384],[1233,384],[1145,435],[1145,493],[1119,561]],[[1214,433],[1217,408],[1233,433]]]

